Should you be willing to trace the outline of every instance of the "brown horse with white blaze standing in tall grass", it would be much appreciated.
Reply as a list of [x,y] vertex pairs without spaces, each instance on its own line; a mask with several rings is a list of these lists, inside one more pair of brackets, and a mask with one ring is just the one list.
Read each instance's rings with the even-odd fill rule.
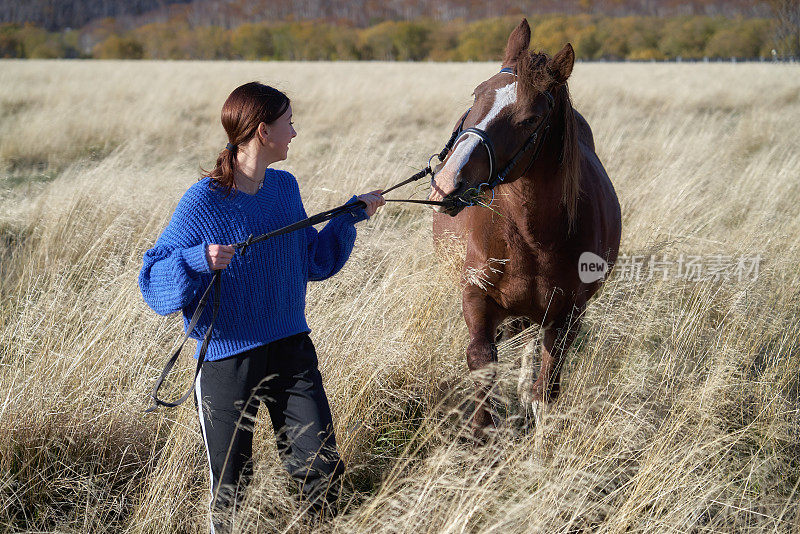
[[498,328],[512,317],[542,327],[539,376],[534,382],[529,344],[518,390],[538,419],[559,394],[564,355],[620,243],[617,195],[569,97],[572,46],[551,58],[528,50],[530,36],[523,19],[509,36],[503,69],[475,88],[475,103],[431,180],[429,199],[447,203],[433,217],[437,244],[446,236],[466,244],[462,307],[478,436],[496,424],[490,400]]

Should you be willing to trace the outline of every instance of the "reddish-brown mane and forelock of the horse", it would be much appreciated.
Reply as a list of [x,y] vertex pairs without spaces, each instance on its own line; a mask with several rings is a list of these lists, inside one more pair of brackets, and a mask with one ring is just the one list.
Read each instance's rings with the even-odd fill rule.
[[550,57],[544,53],[523,53],[517,63],[517,103],[518,109],[526,110],[544,91],[550,91],[555,100],[551,118],[550,135],[562,132],[560,164],[556,178],[563,184],[561,202],[567,211],[569,228],[575,224],[578,197],[580,196],[580,149],[578,146],[578,125],[569,98],[566,82],[558,83],[547,68]]

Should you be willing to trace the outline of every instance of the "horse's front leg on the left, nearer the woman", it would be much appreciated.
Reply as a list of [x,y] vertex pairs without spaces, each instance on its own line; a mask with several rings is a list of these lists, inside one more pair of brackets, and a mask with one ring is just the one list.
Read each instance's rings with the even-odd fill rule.
[[472,416],[472,432],[483,438],[486,429],[496,426],[492,417],[492,387],[497,374],[497,347],[494,333],[502,319],[502,310],[486,293],[479,290],[464,290],[462,296],[464,320],[469,330],[467,366],[475,381],[475,412]]

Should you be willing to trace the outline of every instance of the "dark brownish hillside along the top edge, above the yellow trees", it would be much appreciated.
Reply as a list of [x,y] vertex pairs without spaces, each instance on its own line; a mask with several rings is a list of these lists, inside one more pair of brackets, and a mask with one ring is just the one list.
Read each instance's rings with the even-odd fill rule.
[[131,29],[170,18],[193,26],[231,28],[252,22],[325,20],[366,27],[381,21],[420,17],[447,22],[505,15],[588,13],[605,16],[724,15],[768,17],[766,2],[756,0],[0,0],[0,23],[33,23],[48,30],[79,28],[113,17]]

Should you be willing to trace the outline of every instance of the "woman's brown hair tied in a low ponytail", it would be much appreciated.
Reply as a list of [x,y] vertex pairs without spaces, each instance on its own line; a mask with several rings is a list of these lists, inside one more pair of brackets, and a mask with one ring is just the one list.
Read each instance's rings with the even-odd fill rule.
[[228,96],[221,116],[228,145],[219,153],[214,170],[203,171],[204,176],[211,178],[213,186],[225,191],[225,196],[236,189],[233,173],[239,145],[250,141],[262,122],[275,122],[289,108],[289,103],[285,94],[260,82],[240,85]]

